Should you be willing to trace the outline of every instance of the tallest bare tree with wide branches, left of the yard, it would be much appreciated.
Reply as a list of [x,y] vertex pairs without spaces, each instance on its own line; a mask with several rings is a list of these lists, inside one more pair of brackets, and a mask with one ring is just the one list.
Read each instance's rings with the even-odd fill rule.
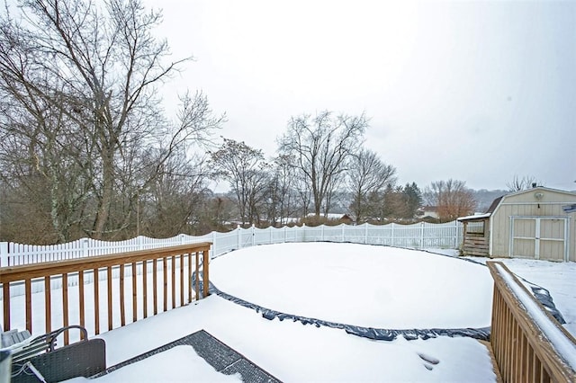
[[[113,236],[142,184],[224,119],[202,94],[182,98],[176,124],[164,119],[158,88],[190,58],[169,61],[166,40],[152,34],[161,14],[139,0],[18,4],[16,17],[0,15],[0,123],[21,158],[6,144],[0,160],[11,181],[43,178],[59,241],[75,225]],[[119,209],[124,217],[112,219]]]

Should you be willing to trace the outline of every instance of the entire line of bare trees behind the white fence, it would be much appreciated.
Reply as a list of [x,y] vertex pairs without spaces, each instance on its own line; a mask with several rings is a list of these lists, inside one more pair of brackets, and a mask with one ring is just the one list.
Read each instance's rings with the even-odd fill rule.
[[364,147],[365,114],[293,116],[270,159],[217,138],[226,116],[202,93],[180,95],[168,120],[158,90],[191,58],[171,60],[154,36],[161,14],[139,0],[18,4],[0,14],[0,240],[200,235],[331,212],[411,222],[424,203],[445,221],[475,209],[461,181],[397,184]]

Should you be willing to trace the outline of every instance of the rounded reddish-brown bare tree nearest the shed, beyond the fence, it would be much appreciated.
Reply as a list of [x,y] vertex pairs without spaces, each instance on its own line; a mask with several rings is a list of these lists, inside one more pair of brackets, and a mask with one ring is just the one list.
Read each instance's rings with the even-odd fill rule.
[[431,183],[426,194],[428,201],[437,206],[438,216],[444,222],[472,214],[476,209],[473,193],[464,181],[450,179]]

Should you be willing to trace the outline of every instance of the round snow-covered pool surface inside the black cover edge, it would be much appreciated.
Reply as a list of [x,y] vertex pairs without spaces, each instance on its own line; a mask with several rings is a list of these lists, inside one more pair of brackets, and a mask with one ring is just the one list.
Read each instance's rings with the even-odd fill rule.
[[249,247],[213,260],[211,281],[261,307],[347,325],[480,328],[491,322],[493,281],[486,267],[401,248]]

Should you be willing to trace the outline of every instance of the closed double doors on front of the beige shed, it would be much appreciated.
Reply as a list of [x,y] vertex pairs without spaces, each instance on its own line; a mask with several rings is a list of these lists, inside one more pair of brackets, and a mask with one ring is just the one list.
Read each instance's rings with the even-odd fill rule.
[[568,219],[512,217],[510,254],[519,258],[568,260]]

